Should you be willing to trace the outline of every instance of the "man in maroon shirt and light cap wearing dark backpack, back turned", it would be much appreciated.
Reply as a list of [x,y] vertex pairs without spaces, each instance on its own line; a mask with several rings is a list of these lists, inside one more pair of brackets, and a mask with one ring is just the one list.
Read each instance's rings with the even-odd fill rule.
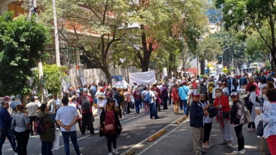
[[92,111],[92,106],[93,106],[94,100],[90,95],[88,95],[87,88],[83,88],[83,95],[80,96],[80,98],[78,100],[78,106],[82,104],[83,98],[89,99],[90,110],[85,111],[83,108],[81,108],[81,115],[82,115],[81,134],[82,135],[85,134],[85,127],[87,126],[90,131],[90,134],[93,135],[93,134],[95,134],[94,127],[93,127],[94,117],[93,117],[93,111]]

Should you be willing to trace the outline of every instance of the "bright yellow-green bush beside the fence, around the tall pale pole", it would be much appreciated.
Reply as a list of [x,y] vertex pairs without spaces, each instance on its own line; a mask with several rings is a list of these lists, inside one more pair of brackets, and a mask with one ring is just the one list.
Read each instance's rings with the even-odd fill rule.
[[[67,76],[65,72],[67,72],[67,66],[57,67],[56,64],[43,64],[43,84],[44,88],[48,90],[48,93],[60,93],[62,87],[61,80]],[[39,92],[38,69],[34,69],[33,75],[33,83],[31,87],[33,90],[36,90],[36,92]]]

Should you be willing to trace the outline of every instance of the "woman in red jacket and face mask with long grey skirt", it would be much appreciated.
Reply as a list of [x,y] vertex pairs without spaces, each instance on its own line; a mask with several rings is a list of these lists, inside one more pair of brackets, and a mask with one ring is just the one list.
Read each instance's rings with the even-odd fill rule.
[[223,139],[223,142],[220,145],[227,144],[227,147],[231,147],[233,146],[233,137],[230,124],[229,98],[223,95],[223,92],[220,88],[216,89],[216,98],[213,105],[218,110],[216,121],[219,123],[221,138]]

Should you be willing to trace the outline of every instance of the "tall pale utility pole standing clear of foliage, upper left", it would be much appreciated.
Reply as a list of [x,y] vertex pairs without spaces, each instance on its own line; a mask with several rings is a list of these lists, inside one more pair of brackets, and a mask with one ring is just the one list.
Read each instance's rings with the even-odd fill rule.
[[54,35],[55,35],[55,60],[57,66],[60,67],[60,47],[58,43],[58,34],[57,34],[57,12],[55,10],[55,0],[52,0],[53,5],[53,20],[54,20]]

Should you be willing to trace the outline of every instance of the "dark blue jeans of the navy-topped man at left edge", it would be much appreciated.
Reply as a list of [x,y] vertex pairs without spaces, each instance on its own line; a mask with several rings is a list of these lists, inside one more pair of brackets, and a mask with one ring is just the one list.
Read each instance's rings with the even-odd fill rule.
[[0,154],[2,154],[2,146],[3,146],[3,144],[6,140],[6,137],[8,137],[9,142],[11,143],[11,147],[14,150],[14,152],[17,152],[16,151],[17,148],[16,148],[15,140],[13,141],[11,135],[8,135],[9,129],[10,129],[10,127],[1,127],[1,129],[0,129],[0,131],[1,131],[1,134],[0,134]]

